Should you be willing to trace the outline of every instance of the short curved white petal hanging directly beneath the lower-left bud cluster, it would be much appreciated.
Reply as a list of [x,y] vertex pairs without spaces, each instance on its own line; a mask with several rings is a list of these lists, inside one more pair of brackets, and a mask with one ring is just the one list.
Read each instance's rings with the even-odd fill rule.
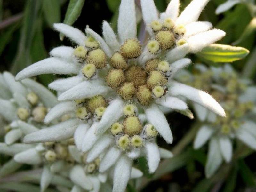
[[76,131],[74,133],[74,140],[75,140],[76,147],[78,148],[79,151],[82,150],[82,142],[90,126],[91,124],[89,123],[81,123],[76,128]]

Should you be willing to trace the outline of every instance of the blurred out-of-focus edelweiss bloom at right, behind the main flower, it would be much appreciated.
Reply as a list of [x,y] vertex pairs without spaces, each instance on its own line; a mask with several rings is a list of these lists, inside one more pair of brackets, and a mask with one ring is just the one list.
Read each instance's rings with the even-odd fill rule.
[[210,140],[205,168],[206,177],[210,177],[223,160],[231,161],[235,138],[256,150],[256,123],[253,121],[256,86],[248,79],[240,79],[229,64],[219,68],[196,65],[195,68],[200,71],[199,75],[183,73],[179,78],[187,76],[192,86],[210,92],[220,101],[227,115],[220,119],[206,108],[193,104],[197,118],[204,122],[197,132],[194,148],[201,148]]

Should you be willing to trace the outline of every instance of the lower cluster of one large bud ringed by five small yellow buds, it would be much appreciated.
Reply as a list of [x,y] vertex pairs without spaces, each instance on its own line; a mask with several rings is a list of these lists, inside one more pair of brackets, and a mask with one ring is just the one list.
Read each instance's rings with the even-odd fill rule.
[[122,150],[141,148],[145,140],[156,137],[157,131],[150,124],[143,127],[137,114],[137,108],[130,104],[123,108],[125,118],[122,123],[116,122],[110,132],[116,138],[116,144]]

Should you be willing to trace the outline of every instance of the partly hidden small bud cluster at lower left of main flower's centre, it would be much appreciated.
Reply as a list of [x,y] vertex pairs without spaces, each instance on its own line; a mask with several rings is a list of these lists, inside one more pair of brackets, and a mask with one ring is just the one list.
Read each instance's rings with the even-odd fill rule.
[[76,117],[81,120],[88,120],[92,115],[100,120],[108,105],[102,95],[96,95],[90,99],[75,100],[75,102],[77,105]]

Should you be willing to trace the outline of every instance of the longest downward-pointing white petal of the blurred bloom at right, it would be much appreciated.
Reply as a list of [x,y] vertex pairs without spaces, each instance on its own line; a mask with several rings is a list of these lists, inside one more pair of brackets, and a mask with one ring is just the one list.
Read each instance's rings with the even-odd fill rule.
[[220,145],[216,138],[212,138],[209,143],[209,150],[207,156],[207,162],[205,165],[205,176],[211,177],[222,163],[222,156],[220,153]]

